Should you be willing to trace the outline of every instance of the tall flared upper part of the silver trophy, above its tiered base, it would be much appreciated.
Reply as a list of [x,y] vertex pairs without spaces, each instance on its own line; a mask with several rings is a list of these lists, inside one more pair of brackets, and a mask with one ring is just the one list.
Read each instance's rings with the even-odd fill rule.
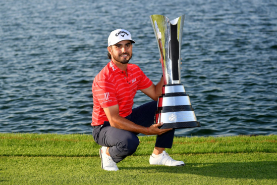
[[159,48],[164,84],[181,83],[181,46],[185,15],[172,21],[151,15],[151,24]]

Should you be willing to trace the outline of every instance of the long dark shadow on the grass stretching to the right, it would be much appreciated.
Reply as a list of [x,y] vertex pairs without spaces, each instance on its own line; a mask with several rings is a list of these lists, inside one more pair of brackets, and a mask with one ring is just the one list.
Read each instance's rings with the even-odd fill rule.
[[155,170],[164,173],[184,173],[224,178],[277,179],[277,161],[187,163],[186,166],[176,167],[155,165],[149,167],[120,167],[120,169]]

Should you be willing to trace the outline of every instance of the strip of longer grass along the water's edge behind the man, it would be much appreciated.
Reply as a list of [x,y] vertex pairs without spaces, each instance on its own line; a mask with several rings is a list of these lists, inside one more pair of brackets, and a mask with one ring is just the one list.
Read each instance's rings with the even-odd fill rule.
[[[155,136],[139,136],[136,156],[150,155]],[[170,154],[277,152],[277,135],[175,137]],[[86,134],[0,133],[0,156],[98,156],[99,145]]]

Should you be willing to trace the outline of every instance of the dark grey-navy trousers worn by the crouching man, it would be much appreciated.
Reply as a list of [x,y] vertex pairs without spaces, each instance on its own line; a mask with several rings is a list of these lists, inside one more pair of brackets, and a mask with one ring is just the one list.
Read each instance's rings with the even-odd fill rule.
[[[148,102],[134,108],[126,119],[138,125],[149,127],[154,123],[156,109],[156,101]],[[175,129],[157,135],[155,147],[172,148],[174,132]],[[100,146],[109,147],[108,152],[116,163],[136,152],[139,145],[137,134],[112,127],[108,121],[105,121],[102,126],[95,126],[92,131],[94,141]]]

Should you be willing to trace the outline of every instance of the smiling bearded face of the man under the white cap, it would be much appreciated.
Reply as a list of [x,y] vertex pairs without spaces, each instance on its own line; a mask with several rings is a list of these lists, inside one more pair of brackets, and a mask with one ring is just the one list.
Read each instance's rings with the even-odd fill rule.
[[[109,48],[109,47],[108,47]],[[127,64],[132,58],[133,45],[130,40],[122,40],[115,45],[112,45],[112,49],[108,49],[114,62],[120,62]]]

